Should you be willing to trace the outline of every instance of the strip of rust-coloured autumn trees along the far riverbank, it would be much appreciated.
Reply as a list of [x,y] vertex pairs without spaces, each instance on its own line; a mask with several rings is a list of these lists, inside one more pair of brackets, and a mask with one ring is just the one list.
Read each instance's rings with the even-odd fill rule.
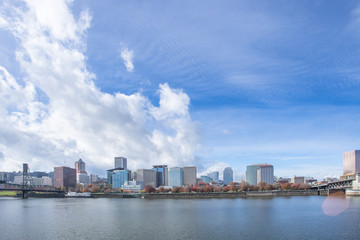
[[[64,189],[65,190],[65,189]],[[146,199],[196,199],[196,198],[248,198],[248,197],[276,197],[276,196],[327,196],[327,190],[310,189],[308,184],[267,184],[249,185],[246,182],[231,182],[228,186],[210,185],[209,183],[198,183],[195,186],[186,185],[184,187],[155,188],[151,185],[145,186],[144,190],[135,193],[123,189],[114,189],[109,184],[79,186],[69,188],[68,192],[91,193],[91,198],[146,198]],[[17,192],[1,192],[0,197],[18,197]],[[80,195],[80,194],[79,194]],[[38,198],[61,198],[64,194],[30,192],[29,197]],[[77,197],[77,196],[74,196]],[[80,196],[79,196],[80,197]]]

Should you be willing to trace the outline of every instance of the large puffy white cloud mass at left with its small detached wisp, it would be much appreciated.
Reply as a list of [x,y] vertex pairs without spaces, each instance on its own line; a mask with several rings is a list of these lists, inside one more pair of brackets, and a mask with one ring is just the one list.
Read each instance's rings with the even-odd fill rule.
[[[193,164],[200,145],[189,97],[166,83],[159,86],[159,106],[140,93],[99,90],[84,56],[91,16],[84,11],[76,19],[69,4],[3,5],[1,28],[17,38],[24,78],[0,66],[2,170],[23,162],[32,170],[73,166],[79,156],[90,171],[112,167],[114,156],[127,157],[134,170]],[[132,51],[121,55],[132,71]]]

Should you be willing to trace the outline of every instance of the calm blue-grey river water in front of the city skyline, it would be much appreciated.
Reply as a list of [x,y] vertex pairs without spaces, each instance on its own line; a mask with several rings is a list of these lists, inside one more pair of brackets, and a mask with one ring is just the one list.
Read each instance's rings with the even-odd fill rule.
[[360,239],[360,197],[325,200],[0,198],[0,239]]

